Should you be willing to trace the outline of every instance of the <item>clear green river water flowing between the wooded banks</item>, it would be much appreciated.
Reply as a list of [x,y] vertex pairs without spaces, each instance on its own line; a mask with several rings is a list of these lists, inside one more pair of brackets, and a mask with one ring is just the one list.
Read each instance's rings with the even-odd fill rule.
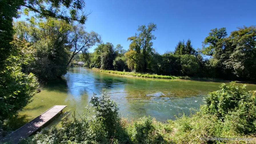
[[[219,89],[221,83],[128,77],[102,73],[83,67],[70,68],[62,79],[49,81],[19,117],[26,121],[37,117],[53,105],[68,105],[65,113],[58,115],[53,124],[59,123],[73,111],[85,111],[93,92],[99,96],[106,89],[120,108],[123,117],[138,118],[151,115],[157,120],[174,119],[178,113],[190,113],[199,108],[203,98]],[[247,84],[247,90],[256,85]]]

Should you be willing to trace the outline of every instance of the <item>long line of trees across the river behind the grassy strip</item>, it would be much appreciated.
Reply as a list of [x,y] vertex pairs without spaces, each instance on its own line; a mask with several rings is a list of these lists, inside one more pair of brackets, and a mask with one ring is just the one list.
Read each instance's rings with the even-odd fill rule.
[[[117,71],[136,71],[159,75],[187,75],[227,80],[255,81],[256,79],[256,27],[242,27],[231,32],[225,28],[212,29],[195,50],[191,40],[179,41],[175,51],[159,54],[153,48],[153,23],[139,26],[128,51],[121,45],[99,45],[93,53],[84,53],[85,66]],[[210,56],[209,59],[203,58]]]

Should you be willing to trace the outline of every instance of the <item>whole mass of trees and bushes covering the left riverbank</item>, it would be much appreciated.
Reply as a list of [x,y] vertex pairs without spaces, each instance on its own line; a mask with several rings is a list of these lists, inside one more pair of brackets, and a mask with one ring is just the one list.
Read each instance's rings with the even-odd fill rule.
[[[17,115],[40,91],[38,81],[65,74],[73,58],[70,51],[76,54],[85,50],[100,41],[100,37],[95,32],[86,32],[80,25],[85,23],[88,15],[79,14],[85,6],[84,1],[1,0],[0,5],[2,129],[4,120]],[[30,12],[35,15],[28,19],[29,23],[13,22],[13,18]],[[74,24],[75,21],[78,24]]]

